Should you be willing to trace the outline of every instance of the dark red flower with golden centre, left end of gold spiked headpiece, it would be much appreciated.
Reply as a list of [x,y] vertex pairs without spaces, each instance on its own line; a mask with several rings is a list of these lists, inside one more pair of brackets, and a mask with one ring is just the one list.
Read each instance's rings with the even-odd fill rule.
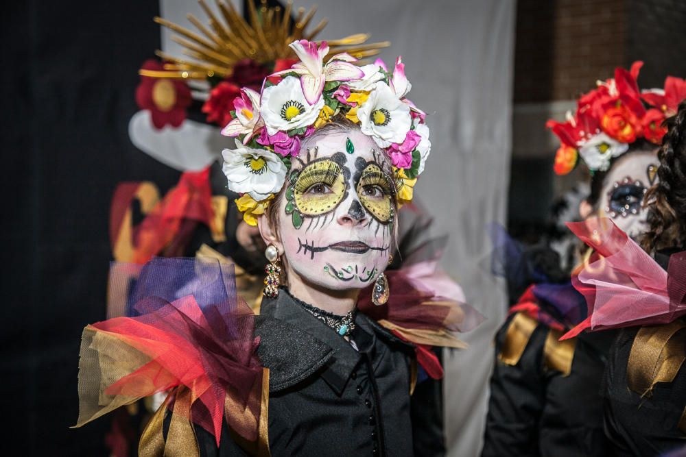
[[[164,66],[150,59],[143,62],[141,69],[163,71]],[[136,103],[141,110],[150,111],[152,125],[156,129],[162,129],[165,125],[181,125],[191,101],[191,90],[187,84],[174,79],[141,75],[141,83],[136,88]]]

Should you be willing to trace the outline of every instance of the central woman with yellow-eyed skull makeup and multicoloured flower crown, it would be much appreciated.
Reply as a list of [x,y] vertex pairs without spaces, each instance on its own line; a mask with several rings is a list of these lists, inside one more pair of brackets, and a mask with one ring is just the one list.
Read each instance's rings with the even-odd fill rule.
[[431,346],[464,347],[454,332],[481,317],[446,277],[384,274],[429,156],[425,114],[400,58],[389,71],[326,42],[290,47],[300,62],[243,88],[222,131],[236,137],[227,186],[267,245],[259,316],[226,265],[153,260],[140,315],[84,331],[79,425],[164,386],[141,455],[442,455],[415,445],[442,440],[412,420],[418,364],[442,371]]

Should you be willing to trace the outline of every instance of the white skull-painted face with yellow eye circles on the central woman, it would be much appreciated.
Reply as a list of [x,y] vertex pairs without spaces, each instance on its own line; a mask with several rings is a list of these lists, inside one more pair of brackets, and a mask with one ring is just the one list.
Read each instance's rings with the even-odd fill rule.
[[364,288],[386,269],[395,221],[391,165],[357,129],[307,142],[292,160],[279,237],[292,271],[331,290]]

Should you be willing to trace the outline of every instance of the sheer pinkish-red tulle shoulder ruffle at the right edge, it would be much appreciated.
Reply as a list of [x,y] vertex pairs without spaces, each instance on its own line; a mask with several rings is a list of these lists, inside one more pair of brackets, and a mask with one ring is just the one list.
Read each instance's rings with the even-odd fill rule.
[[686,314],[686,251],[672,255],[664,271],[610,219],[567,226],[596,252],[572,276],[589,317],[562,339],[586,329],[669,323]]

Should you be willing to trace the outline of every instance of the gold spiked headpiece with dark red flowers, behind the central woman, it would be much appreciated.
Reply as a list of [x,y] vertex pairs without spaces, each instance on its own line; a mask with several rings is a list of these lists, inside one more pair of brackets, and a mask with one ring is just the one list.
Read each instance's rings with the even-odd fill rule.
[[[327,25],[324,19],[309,29],[316,8],[306,12],[292,3],[281,8],[247,1],[247,18],[230,1],[216,0],[217,14],[206,0],[198,3],[208,18],[206,25],[193,14],[188,14],[193,29],[164,18],[154,19],[175,34],[172,40],[185,54],[177,57],[156,51],[163,63],[146,60],[139,71],[136,100],[141,109],[150,111],[156,129],[179,127],[188,110],[194,110],[193,99],[202,101],[202,108],[198,108],[208,123],[224,127],[231,120],[231,102],[241,95],[242,87],[259,90],[270,73],[290,68],[297,60],[289,43],[312,40]],[[330,51],[367,58],[390,45],[388,41],[369,43],[368,38],[368,34],[354,34],[332,40]]]

